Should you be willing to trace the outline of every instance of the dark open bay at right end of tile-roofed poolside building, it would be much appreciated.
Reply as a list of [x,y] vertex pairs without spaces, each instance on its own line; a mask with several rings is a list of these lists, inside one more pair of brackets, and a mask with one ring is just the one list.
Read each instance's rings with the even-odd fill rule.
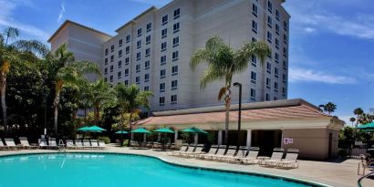
[[252,130],[252,147],[259,147],[259,156],[271,156],[282,146],[282,130]]

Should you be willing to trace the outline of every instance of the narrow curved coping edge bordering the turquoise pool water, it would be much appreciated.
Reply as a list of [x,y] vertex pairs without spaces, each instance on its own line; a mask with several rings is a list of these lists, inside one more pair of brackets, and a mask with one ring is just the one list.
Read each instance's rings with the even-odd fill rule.
[[0,155],[0,158],[8,157],[8,156],[22,156],[22,155],[37,155],[37,154],[65,154],[65,153],[88,153],[88,154],[119,154],[119,155],[132,155],[132,156],[142,156],[142,157],[149,157],[153,159],[160,160],[164,163],[182,167],[182,168],[190,168],[193,170],[205,170],[205,171],[222,171],[222,172],[229,172],[229,173],[235,173],[235,174],[244,174],[244,175],[252,175],[252,176],[262,176],[265,178],[271,178],[271,179],[281,179],[286,180],[288,182],[295,182],[295,183],[301,183],[301,184],[308,184],[308,185],[314,185],[317,187],[335,187],[330,184],[322,183],[322,182],[313,182],[306,179],[298,179],[298,178],[292,178],[284,175],[279,174],[272,174],[268,172],[262,172],[262,171],[235,171],[230,169],[219,169],[219,168],[213,168],[213,167],[206,167],[206,166],[192,166],[188,164],[182,164],[182,163],[176,163],[173,161],[168,161],[160,156],[157,155],[148,155],[148,154],[142,154],[142,153],[131,153],[131,152],[119,152],[119,151],[67,151],[67,152],[61,152],[61,151],[38,151],[38,152],[16,152],[16,153],[5,153]]

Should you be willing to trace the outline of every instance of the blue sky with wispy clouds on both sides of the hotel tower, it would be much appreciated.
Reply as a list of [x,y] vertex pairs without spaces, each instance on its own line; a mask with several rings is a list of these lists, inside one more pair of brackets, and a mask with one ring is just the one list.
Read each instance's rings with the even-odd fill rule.
[[[65,19],[110,35],[151,5],[169,0],[0,0],[0,29],[47,38]],[[374,1],[287,0],[291,17],[288,98],[338,105],[340,119],[374,108]]]

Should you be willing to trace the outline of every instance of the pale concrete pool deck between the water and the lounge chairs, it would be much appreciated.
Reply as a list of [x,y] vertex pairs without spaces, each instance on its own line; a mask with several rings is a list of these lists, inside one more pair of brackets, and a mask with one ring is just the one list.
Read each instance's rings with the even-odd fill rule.
[[[104,151],[98,150],[68,150],[67,152],[113,152],[113,153],[132,153],[148,156],[159,157],[164,161],[178,163],[182,165],[213,168],[228,171],[247,171],[258,172],[270,175],[279,175],[301,180],[325,183],[336,187],[353,187],[357,186],[359,175],[357,174],[358,160],[347,160],[343,162],[326,162],[326,161],[299,161],[298,169],[282,170],[275,168],[265,168],[257,164],[242,165],[216,161],[201,161],[196,159],[185,159],[168,156],[167,151],[151,150],[132,150],[126,147],[108,147]],[[21,153],[40,153],[40,152],[58,152],[49,150],[22,150],[22,151],[0,151],[0,155],[21,154]],[[362,182],[364,187],[374,186],[374,180],[365,179]]]

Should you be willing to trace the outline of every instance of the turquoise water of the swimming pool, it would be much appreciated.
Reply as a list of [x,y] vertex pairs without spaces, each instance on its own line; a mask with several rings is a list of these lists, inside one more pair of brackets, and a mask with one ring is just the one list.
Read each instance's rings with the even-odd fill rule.
[[195,170],[119,154],[0,157],[0,187],[302,187],[282,179]]

